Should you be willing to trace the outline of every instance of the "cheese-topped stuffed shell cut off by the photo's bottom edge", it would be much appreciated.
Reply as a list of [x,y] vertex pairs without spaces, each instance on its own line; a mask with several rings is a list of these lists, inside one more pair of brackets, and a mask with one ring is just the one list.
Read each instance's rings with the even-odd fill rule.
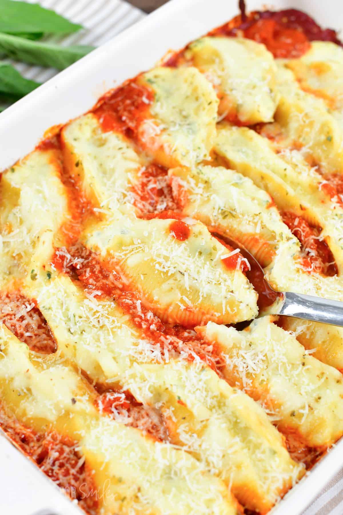
[[87,462],[97,469],[95,480],[106,488],[105,515],[241,512],[222,480],[195,458],[131,427],[102,418],[82,444]]

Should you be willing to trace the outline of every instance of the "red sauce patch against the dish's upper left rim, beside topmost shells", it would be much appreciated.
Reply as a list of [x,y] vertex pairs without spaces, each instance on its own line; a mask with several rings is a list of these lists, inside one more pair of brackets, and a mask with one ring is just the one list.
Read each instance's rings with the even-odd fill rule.
[[135,133],[143,119],[150,117],[149,106],[154,99],[153,92],[129,80],[119,88],[100,98],[94,114],[98,117],[104,131],[121,130]]

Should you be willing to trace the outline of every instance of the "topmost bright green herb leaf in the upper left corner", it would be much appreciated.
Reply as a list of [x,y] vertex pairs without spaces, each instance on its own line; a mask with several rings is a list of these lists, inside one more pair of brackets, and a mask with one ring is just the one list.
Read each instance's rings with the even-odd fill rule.
[[69,34],[82,28],[82,25],[69,22],[55,11],[39,4],[0,0],[0,32],[49,32]]

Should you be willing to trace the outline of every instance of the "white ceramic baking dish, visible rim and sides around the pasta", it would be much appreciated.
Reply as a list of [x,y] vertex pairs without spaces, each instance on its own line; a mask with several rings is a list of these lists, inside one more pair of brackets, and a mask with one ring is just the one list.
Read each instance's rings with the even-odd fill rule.
[[[247,0],[248,10],[263,6],[263,0]],[[323,27],[343,29],[341,0],[327,0],[324,4],[322,0],[274,0],[269,6],[296,7],[308,12]],[[32,150],[50,126],[85,112],[106,90],[152,67],[168,49],[182,47],[237,13],[238,0],[172,0],[70,66],[0,114],[0,170]],[[299,515],[341,466],[343,439],[272,510],[273,515]],[[18,502],[4,506],[3,485],[11,472]],[[61,515],[80,513],[1,434],[0,485],[1,513],[31,515],[41,507]],[[35,503],[40,496],[45,506]]]

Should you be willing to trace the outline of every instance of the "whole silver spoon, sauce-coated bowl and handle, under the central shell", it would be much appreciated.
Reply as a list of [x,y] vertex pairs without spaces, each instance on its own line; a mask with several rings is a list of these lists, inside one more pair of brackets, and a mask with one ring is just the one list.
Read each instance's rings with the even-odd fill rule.
[[226,236],[220,234],[218,236],[231,247],[239,248],[240,253],[250,265],[250,270],[245,274],[259,294],[258,317],[287,315],[343,327],[343,302],[293,293],[292,291],[275,291],[267,282],[263,268],[249,251],[242,247],[240,243]]

